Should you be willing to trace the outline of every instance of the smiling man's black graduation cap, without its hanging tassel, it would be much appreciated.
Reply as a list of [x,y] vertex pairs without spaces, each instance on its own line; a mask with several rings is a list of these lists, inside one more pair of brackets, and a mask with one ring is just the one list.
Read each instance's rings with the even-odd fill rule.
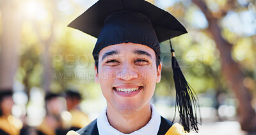
[[93,56],[122,42],[148,45],[159,54],[159,42],[188,33],[173,15],[143,0],[100,0],[68,26],[98,38]]

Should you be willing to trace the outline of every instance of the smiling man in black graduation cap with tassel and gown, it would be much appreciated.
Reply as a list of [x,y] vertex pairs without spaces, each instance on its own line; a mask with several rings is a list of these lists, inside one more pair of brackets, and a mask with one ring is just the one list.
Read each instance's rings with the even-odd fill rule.
[[[143,0],[100,0],[69,26],[98,38],[95,82],[107,107],[88,126],[68,134],[189,134],[150,104],[161,79],[159,42],[187,33],[175,17]],[[197,131],[193,90],[172,53],[180,119],[187,132],[190,126]]]

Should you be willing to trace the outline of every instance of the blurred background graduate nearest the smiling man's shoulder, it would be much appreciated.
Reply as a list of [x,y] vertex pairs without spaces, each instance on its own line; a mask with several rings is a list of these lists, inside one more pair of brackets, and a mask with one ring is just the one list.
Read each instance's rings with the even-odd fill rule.
[[71,114],[70,130],[77,131],[90,123],[88,116],[81,111],[79,104],[81,102],[81,95],[75,90],[66,90],[65,99],[67,102],[67,111]]

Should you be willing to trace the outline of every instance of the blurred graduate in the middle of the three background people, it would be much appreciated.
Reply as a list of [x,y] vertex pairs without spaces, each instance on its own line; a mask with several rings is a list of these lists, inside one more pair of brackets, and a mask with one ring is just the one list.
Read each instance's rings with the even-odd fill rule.
[[60,100],[59,93],[46,93],[45,109],[46,116],[43,122],[36,128],[38,135],[58,135],[65,134],[62,129],[61,113],[65,110],[64,103]]

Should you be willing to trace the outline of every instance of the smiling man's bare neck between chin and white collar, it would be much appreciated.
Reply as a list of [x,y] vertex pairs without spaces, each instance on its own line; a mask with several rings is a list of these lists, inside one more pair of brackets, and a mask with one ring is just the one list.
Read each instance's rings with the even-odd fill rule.
[[120,113],[112,106],[107,106],[107,117],[109,124],[116,130],[129,134],[138,131],[151,119],[152,111],[149,102],[143,106],[139,111],[134,113]]

